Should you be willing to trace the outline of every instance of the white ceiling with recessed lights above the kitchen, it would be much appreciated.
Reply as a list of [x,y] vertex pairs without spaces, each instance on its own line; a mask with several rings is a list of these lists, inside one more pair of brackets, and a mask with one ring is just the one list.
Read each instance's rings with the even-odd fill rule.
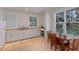
[[6,7],[7,9],[26,11],[31,13],[43,13],[45,11],[50,11],[55,7]]

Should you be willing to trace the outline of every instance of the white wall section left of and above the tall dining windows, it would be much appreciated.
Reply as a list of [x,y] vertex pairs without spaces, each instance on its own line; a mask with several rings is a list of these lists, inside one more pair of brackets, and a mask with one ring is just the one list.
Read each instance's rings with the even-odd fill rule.
[[[74,8],[74,7],[57,7],[54,10],[51,11],[51,15],[50,15],[50,18],[51,18],[51,21],[50,21],[50,30],[53,33],[56,33],[56,13],[62,12],[62,11],[66,11],[66,10],[70,10],[72,8]],[[64,29],[65,29],[65,27],[64,27]]]

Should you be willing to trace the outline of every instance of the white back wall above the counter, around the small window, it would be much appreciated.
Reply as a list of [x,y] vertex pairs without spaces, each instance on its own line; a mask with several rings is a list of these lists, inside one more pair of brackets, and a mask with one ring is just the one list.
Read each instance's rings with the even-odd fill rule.
[[[16,16],[16,17],[14,17],[16,24],[12,26],[13,29],[18,28],[18,27],[30,27],[30,22],[29,22],[30,16],[37,17],[37,27],[41,26],[41,20],[42,19],[41,19],[40,14],[34,14],[34,13],[17,11],[17,10],[5,9],[3,11],[3,19],[6,20],[5,15],[15,15]],[[7,28],[10,28],[10,27],[7,26]]]

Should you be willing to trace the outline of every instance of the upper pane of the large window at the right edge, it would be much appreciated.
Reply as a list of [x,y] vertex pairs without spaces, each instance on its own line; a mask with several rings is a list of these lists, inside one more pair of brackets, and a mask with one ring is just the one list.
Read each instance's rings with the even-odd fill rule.
[[79,8],[66,11],[66,21],[67,22],[79,21]]

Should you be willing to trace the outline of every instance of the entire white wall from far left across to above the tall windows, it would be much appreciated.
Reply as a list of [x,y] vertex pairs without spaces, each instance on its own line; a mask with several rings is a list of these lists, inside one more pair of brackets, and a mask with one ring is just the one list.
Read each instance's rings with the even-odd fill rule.
[[[72,8],[74,7],[56,7],[52,11],[47,11],[46,13],[43,13],[43,14],[34,14],[34,13],[5,9],[3,11],[3,15],[5,14],[16,15],[15,28],[21,27],[21,26],[29,27],[30,26],[29,16],[33,15],[37,17],[37,20],[38,20],[37,27],[40,27],[41,25],[43,25],[47,31],[51,30],[52,32],[56,32],[56,13],[61,11],[66,11]],[[0,12],[0,15],[2,15],[2,11]],[[2,16],[0,16],[0,18],[2,19]]]

